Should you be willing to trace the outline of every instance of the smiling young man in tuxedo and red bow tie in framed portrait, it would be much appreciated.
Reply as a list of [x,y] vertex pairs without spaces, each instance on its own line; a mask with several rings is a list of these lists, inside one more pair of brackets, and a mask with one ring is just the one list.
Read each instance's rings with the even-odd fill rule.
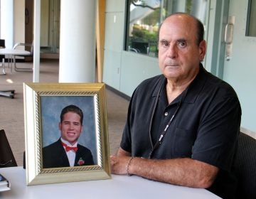
[[94,165],[90,149],[78,144],[82,133],[82,110],[69,105],[60,114],[60,139],[43,147],[43,168]]

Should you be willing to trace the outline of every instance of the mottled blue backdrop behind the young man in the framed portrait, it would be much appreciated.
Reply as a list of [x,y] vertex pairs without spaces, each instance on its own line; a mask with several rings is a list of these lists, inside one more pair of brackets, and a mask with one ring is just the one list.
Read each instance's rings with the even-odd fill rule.
[[82,109],[84,118],[83,131],[78,143],[92,151],[97,163],[95,107],[93,96],[41,96],[42,144],[48,146],[60,138],[58,123],[62,109],[73,104]]

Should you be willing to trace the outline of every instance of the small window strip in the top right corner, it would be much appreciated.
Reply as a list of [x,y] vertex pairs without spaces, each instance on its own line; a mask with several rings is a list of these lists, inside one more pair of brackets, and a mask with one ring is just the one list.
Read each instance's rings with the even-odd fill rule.
[[248,1],[246,36],[256,37],[256,0]]

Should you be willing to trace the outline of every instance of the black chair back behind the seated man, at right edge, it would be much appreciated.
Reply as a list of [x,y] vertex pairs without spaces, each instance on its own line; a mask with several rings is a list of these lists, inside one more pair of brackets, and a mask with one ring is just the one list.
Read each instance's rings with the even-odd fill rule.
[[238,178],[237,198],[256,198],[256,139],[242,132],[238,137],[235,175]]

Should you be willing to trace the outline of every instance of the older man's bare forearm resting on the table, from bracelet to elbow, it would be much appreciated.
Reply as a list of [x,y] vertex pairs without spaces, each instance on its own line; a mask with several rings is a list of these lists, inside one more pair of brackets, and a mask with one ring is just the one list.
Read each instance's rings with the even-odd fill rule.
[[218,168],[191,158],[149,160],[133,158],[129,163],[129,173],[154,181],[208,188],[218,173]]

